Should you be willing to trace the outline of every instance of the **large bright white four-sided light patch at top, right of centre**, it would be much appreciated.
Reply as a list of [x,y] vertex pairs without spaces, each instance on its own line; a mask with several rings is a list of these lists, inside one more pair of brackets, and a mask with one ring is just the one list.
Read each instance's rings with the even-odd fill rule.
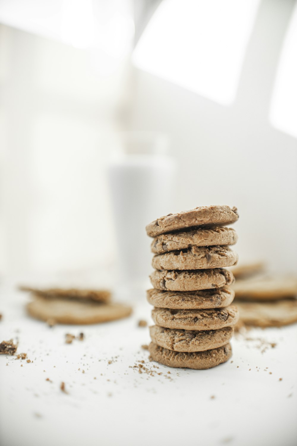
[[134,65],[218,103],[236,96],[259,0],[163,0]]

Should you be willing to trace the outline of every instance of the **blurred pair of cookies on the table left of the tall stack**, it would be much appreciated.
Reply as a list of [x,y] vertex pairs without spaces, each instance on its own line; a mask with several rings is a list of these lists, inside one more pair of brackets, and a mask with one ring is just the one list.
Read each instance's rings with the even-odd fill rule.
[[33,298],[26,306],[33,318],[55,324],[96,324],[130,316],[132,308],[111,302],[108,290],[39,289],[22,286]]

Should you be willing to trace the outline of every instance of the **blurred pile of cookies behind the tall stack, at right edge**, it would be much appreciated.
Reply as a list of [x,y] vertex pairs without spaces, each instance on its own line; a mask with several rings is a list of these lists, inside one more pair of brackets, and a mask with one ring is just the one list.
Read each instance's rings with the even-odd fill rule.
[[297,322],[297,277],[268,274],[263,262],[230,268],[236,277],[232,289],[243,326],[281,327]]

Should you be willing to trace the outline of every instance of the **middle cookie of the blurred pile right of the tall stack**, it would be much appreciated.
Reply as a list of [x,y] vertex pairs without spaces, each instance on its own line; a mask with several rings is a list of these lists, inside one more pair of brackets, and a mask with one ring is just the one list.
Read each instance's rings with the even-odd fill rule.
[[278,300],[297,296],[296,277],[259,277],[238,280],[232,288],[236,298],[244,300]]

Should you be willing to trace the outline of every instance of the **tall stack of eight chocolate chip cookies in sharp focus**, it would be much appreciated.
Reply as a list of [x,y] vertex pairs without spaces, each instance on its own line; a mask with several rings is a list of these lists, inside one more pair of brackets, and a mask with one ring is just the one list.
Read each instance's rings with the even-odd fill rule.
[[202,206],[169,214],[146,226],[154,237],[151,274],[154,289],[147,300],[155,307],[150,327],[151,358],[169,367],[207,369],[232,355],[229,343],[238,311],[230,305],[228,286],[237,254],[228,245],[236,231],[224,227],[238,219],[229,206]]

